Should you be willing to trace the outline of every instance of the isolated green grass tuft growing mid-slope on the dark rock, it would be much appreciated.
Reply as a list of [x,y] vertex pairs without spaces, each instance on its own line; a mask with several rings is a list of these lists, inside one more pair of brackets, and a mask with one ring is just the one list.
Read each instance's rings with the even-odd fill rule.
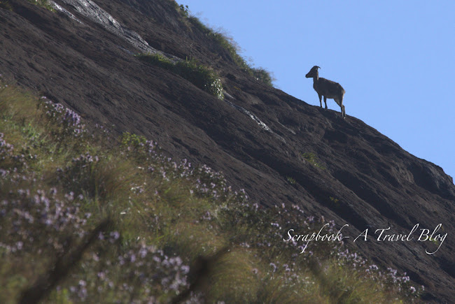
[[224,99],[221,79],[212,68],[203,66],[197,61],[191,59],[173,63],[160,53],[140,54],[137,55],[137,57],[148,64],[160,66],[160,68],[172,71],[190,81],[196,87],[199,87],[209,94],[216,96],[218,99]]

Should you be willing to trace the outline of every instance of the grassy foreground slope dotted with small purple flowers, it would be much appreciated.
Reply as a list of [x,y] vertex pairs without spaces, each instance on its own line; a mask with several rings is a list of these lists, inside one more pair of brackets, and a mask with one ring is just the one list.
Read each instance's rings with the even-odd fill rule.
[[299,254],[286,231],[325,222],[297,205],[263,208],[207,166],[174,162],[143,136],[86,129],[71,110],[13,86],[0,85],[0,133],[0,303],[400,303],[418,294],[342,243]]

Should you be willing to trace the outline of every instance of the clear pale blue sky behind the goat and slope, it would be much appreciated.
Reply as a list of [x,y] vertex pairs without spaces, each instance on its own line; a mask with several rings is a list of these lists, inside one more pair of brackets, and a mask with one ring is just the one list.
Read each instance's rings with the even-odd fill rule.
[[346,90],[347,115],[455,178],[455,1],[177,2],[315,106],[304,75],[320,66]]

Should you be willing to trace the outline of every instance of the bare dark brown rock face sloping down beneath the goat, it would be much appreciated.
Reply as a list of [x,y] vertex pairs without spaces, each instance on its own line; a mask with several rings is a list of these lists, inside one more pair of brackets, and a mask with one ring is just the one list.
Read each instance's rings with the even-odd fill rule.
[[[343,120],[251,78],[172,1],[94,0],[108,14],[103,20],[79,11],[81,1],[93,5],[57,0],[62,10],[52,13],[11,0],[13,11],[0,9],[0,73],[88,122],[142,134],[169,156],[223,171],[253,201],[299,204],[307,215],[349,224],[349,246],[426,285],[426,300],[453,300],[455,186],[440,167],[354,117]],[[133,56],[144,49],[213,67],[226,101]],[[302,78],[302,85],[310,84]],[[303,153],[316,155],[318,166]],[[426,254],[436,248],[416,240],[420,229],[431,233],[440,223],[447,238]],[[415,224],[413,241],[374,238],[376,229],[409,233]],[[353,243],[365,229],[367,242]]]

